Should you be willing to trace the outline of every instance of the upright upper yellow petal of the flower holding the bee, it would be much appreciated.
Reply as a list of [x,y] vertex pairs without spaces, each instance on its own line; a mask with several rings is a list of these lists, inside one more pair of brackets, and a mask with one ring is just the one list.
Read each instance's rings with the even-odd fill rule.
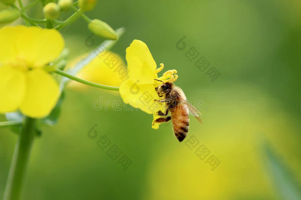
[[141,40],[133,40],[126,48],[128,76],[139,84],[152,84],[157,78],[156,63],[148,46]]

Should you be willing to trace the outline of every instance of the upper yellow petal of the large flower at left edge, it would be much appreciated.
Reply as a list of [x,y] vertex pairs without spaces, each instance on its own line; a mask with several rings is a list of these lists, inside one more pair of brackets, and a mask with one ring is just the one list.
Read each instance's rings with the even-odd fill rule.
[[[55,29],[19,25],[7,26],[0,30],[0,45],[3,44],[6,45],[0,50],[0,62],[22,61],[29,67],[36,68],[58,57],[65,42]],[[8,52],[5,52],[6,49]]]

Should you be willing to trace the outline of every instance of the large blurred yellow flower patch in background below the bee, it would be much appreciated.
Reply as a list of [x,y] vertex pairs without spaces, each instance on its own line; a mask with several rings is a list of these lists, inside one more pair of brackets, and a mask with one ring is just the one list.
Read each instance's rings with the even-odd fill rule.
[[300,160],[287,159],[300,158],[300,131],[293,125],[298,119],[253,85],[195,90],[200,93],[209,97],[206,105],[213,108],[204,111],[206,124],[191,125],[182,146],[158,138],[160,151],[148,166],[149,188],[141,199],[279,200],[263,145],[276,148],[301,177]]

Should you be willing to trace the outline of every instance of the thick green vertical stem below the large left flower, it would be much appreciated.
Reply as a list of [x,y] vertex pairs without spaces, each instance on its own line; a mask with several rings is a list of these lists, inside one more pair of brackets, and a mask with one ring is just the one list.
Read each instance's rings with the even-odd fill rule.
[[36,120],[25,117],[15,146],[3,200],[19,200],[22,184],[35,137]]

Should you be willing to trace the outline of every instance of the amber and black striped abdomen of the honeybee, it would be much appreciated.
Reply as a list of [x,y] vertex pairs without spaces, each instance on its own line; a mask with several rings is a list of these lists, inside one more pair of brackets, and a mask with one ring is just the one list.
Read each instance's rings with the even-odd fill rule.
[[187,136],[189,129],[189,110],[186,104],[178,104],[170,109],[174,132],[180,142]]

